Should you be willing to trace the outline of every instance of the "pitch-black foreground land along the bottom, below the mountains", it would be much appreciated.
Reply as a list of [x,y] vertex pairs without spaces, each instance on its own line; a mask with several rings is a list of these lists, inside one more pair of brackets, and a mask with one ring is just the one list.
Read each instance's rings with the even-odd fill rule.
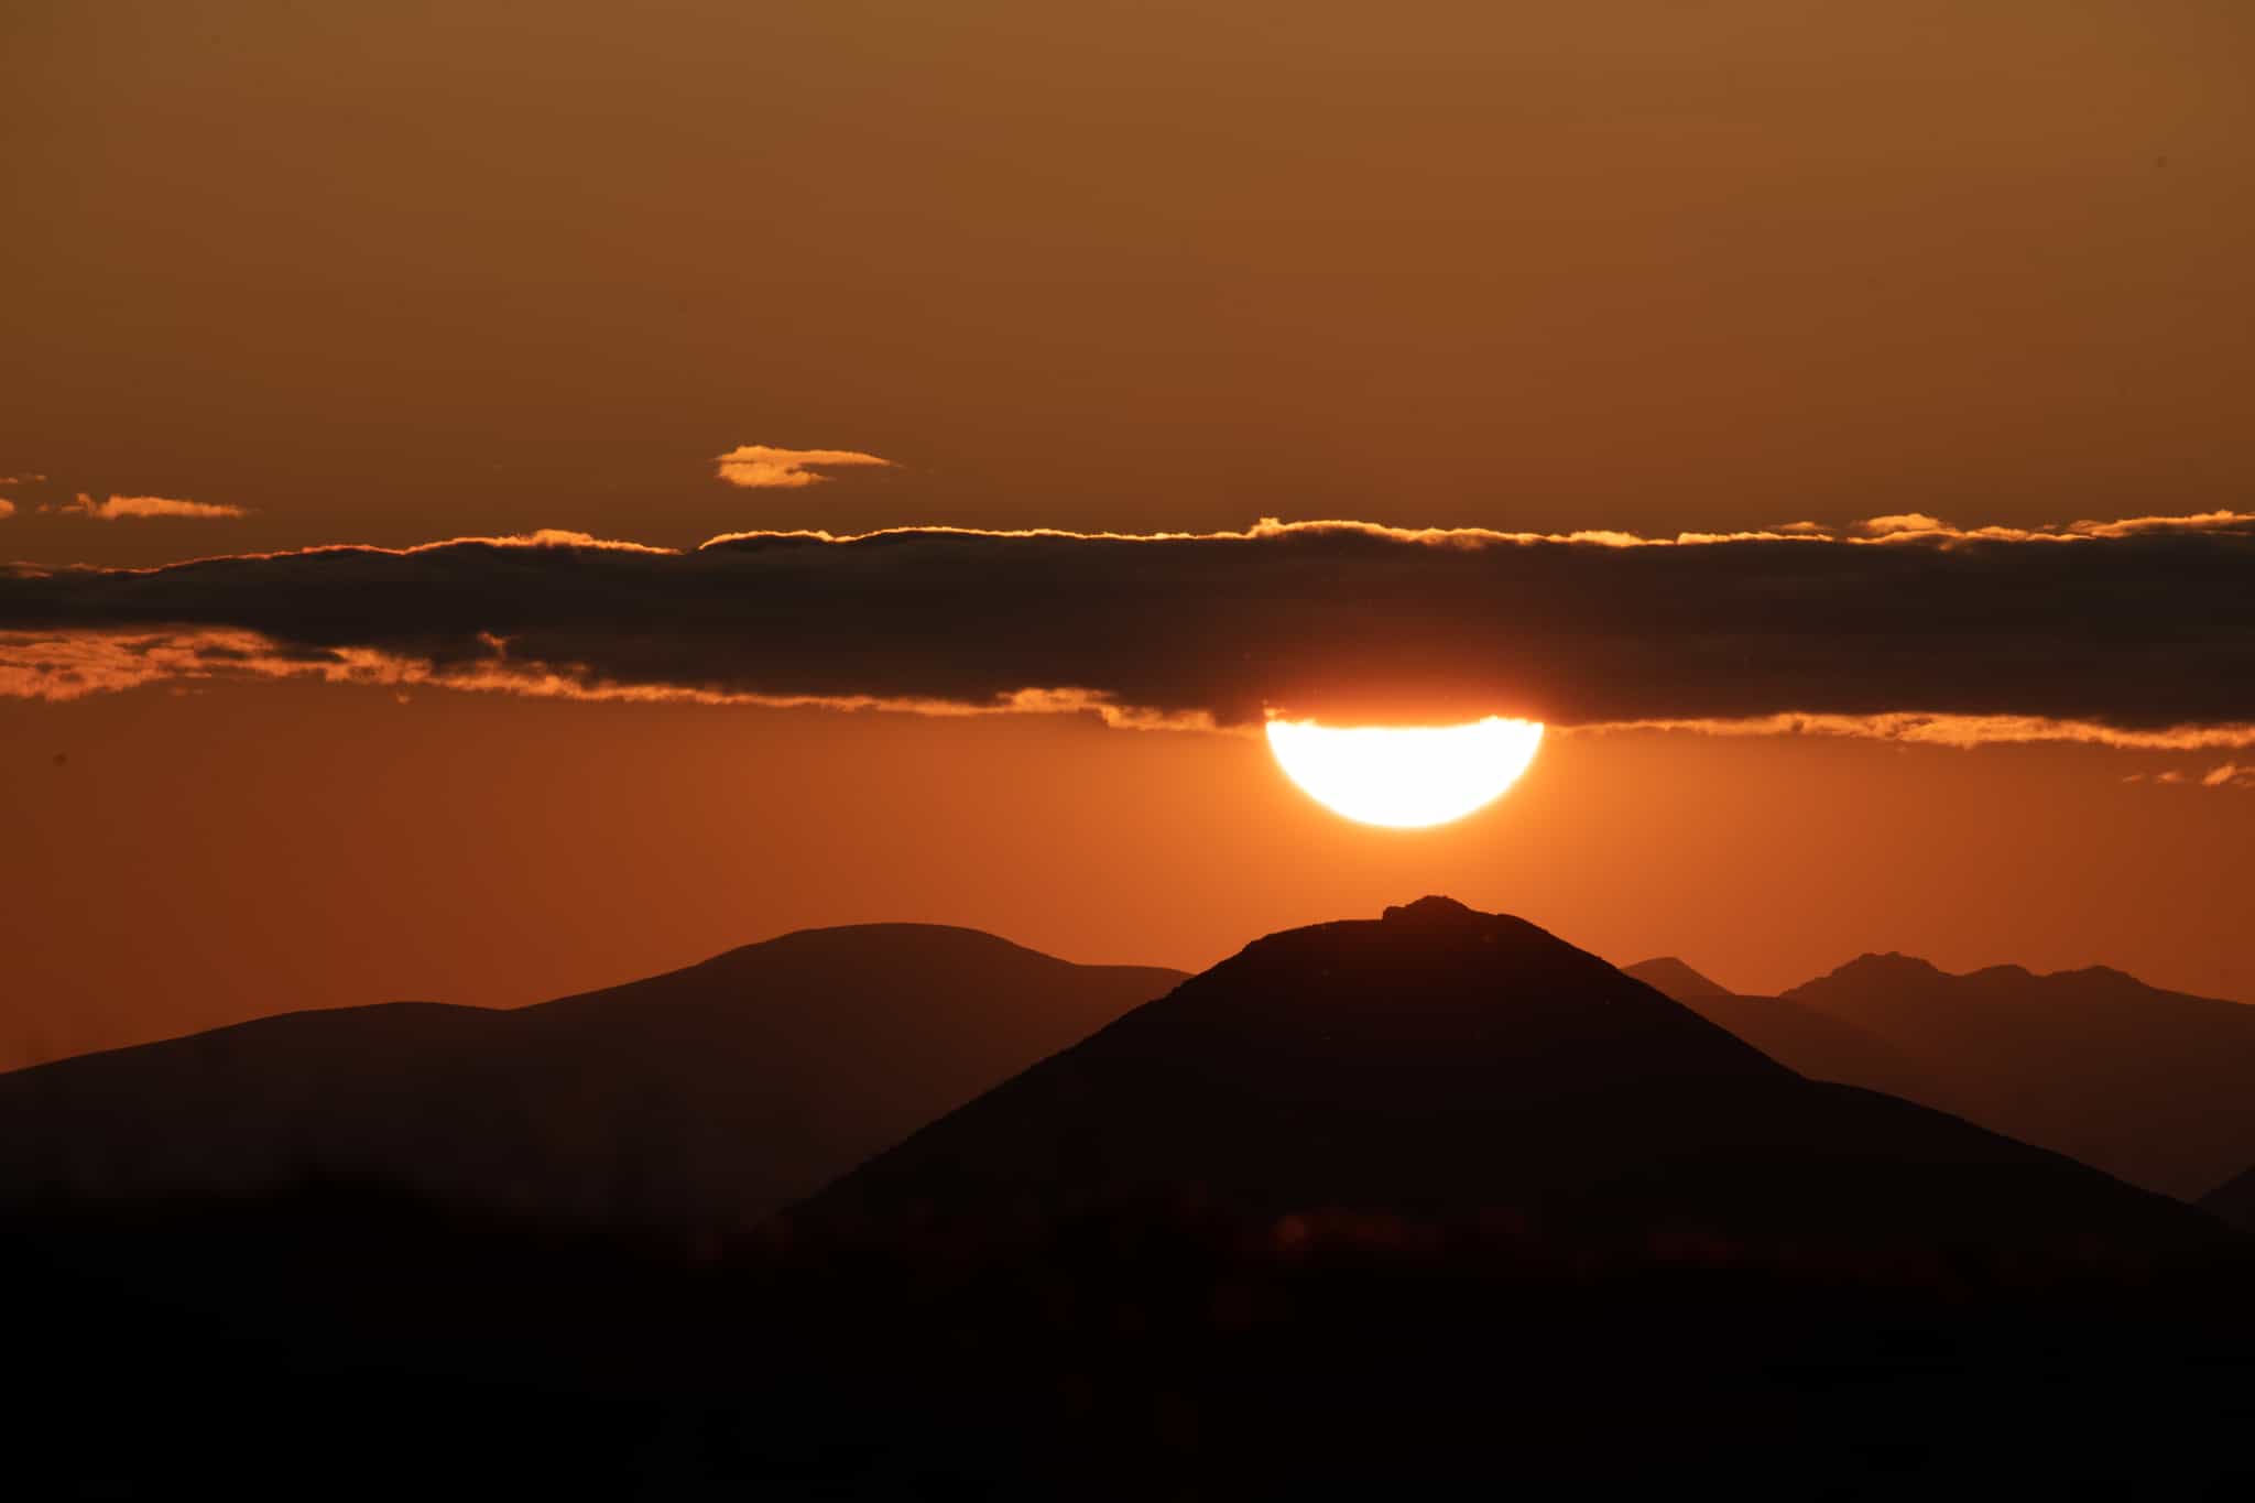
[[18,1496],[2244,1496],[2246,1269],[1080,1219],[618,1246],[341,1190],[9,1237]]

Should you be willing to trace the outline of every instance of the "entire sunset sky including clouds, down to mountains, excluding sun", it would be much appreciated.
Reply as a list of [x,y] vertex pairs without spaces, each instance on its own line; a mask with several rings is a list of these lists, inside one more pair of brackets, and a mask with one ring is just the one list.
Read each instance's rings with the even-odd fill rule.
[[[2255,1000],[2239,0],[27,0],[0,52],[0,1068],[1421,892],[1750,991]],[[1389,831],[1270,712],[1551,735]]]

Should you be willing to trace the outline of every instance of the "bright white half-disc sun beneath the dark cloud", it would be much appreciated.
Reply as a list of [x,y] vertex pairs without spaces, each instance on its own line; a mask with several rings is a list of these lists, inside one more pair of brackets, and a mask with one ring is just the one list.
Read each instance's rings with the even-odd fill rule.
[[1542,744],[1536,721],[1488,717],[1470,726],[1355,726],[1270,721],[1270,750],[1285,777],[1333,813],[1364,825],[1418,829],[1461,820],[1493,802]]

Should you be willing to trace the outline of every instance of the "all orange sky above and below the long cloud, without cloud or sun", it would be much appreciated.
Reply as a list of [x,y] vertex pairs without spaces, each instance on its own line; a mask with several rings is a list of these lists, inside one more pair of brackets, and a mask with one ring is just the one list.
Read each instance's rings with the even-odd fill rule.
[[[2241,0],[18,0],[0,56],[0,561],[2255,493]],[[1067,717],[0,699],[0,1066],[859,919],[1195,967],[1432,890],[1748,989],[2255,1000],[2228,762],[1554,737],[1389,834]]]

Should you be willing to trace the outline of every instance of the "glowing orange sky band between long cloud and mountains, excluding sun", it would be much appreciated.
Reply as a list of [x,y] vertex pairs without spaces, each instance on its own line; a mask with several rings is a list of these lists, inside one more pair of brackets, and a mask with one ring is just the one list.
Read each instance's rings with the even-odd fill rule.
[[0,1064],[877,917],[1202,967],[1434,890],[1748,989],[1905,949],[2255,1000],[2255,793],[2122,782],[2221,755],[1551,737],[1434,831],[1339,820],[1252,737],[1073,717],[219,685],[0,701]]

